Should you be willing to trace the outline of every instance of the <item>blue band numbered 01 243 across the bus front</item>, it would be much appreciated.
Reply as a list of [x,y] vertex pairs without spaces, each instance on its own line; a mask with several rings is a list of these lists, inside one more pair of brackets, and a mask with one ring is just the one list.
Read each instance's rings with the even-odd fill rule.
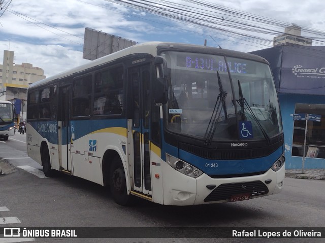
[[267,171],[283,154],[280,146],[269,156],[248,160],[208,160],[179,150],[179,158],[192,164],[208,175],[245,174]]

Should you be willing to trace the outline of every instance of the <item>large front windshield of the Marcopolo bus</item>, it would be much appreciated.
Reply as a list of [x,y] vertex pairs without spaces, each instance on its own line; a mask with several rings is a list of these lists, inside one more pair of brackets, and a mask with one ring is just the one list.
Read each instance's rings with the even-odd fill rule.
[[[162,55],[171,73],[164,109],[169,131],[209,142],[237,141],[249,134],[248,138],[269,140],[282,132],[267,64],[189,52]],[[241,129],[247,134],[240,136]]]

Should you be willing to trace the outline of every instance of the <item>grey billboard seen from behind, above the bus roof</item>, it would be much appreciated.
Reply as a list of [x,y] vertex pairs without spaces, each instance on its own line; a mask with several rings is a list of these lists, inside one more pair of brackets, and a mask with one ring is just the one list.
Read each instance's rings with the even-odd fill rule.
[[136,44],[138,42],[85,28],[82,58],[94,60]]

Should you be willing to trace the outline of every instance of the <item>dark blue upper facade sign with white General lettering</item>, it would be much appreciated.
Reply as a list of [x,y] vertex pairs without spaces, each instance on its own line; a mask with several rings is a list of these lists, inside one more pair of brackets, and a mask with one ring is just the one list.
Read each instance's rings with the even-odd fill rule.
[[325,94],[325,46],[277,46],[251,53],[270,62],[278,93]]

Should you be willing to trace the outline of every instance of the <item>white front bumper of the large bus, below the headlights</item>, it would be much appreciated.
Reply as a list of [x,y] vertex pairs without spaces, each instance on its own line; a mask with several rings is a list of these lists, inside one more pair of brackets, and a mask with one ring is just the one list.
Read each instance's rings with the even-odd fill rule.
[[163,166],[164,204],[196,205],[253,199],[280,193],[285,177],[284,165],[277,171],[269,169],[262,175],[235,178],[211,178],[202,174],[192,178]]

